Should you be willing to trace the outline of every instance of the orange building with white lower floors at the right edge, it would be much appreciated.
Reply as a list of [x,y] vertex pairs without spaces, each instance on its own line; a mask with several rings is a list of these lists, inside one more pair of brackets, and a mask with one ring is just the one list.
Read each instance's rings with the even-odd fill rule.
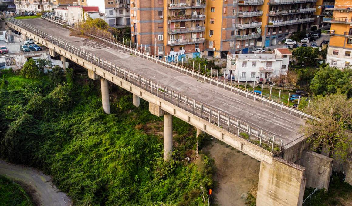
[[331,23],[330,30],[322,30],[322,35],[329,35],[326,63],[340,69],[352,64],[352,0],[335,0],[335,5],[326,5],[331,17],[323,22]]

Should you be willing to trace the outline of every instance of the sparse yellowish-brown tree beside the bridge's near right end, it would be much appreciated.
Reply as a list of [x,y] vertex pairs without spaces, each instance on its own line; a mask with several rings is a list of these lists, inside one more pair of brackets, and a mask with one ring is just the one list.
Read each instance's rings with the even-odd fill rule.
[[352,127],[352,99],[344,94],[328,94],[315,98],[304,109],[319,120],[307,121],[302,128],[311,143],[311,149],[328,148],[329,156],[345,160],[350,146],[346,130]]

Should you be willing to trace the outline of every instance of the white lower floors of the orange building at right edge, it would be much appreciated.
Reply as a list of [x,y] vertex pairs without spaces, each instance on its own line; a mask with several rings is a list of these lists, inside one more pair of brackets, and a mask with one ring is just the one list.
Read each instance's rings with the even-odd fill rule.
[[352,49],[349,48],[337,48],[337,47],[328,47],[326,55],[326,63],[329,63],[330,66],[336,66],[339,69],[349,68],[352,65]]

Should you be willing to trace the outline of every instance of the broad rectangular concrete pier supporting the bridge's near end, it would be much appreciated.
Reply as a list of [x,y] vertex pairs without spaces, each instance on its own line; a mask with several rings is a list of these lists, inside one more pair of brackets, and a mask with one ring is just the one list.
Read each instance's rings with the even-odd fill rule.
[[304,167],[277,157],[271,164],[260,162],[256,206],[301,206],[304,172]]

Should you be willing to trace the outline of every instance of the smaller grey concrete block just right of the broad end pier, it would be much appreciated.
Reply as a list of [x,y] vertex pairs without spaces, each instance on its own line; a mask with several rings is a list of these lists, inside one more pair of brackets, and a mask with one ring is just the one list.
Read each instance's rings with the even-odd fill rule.
[[304,175],[307,188],[317,188],[323,184],[328,190],[333,159],[312,151],[303,151],[301,159],[295,163],[306,168]]

